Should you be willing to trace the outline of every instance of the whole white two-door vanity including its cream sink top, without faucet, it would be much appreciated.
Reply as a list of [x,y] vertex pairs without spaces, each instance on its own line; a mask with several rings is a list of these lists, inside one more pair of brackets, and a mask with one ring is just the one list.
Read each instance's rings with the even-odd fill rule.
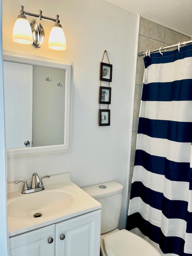
[[71,182],[70,173],[44,179],[44,187],[21,194],[21,183],[8,184],[10,255],[99,256],[101,204]]

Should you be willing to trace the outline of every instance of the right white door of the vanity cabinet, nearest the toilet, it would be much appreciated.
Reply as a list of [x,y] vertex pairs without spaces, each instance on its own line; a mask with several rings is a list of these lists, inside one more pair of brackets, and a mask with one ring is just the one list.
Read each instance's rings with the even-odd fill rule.
[[56,224],[55,256],[99,256],[100,226],[101,210]]

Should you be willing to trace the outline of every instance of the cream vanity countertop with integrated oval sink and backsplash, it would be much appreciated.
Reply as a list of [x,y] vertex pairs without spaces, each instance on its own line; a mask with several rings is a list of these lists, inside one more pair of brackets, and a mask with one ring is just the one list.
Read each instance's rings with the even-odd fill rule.
[[[20,187],[19,187],[20,185]],[[101,209],[101,204],[70,180],[70,173],[45,179],[43,191],[21,194],[23,184],[7,184],[9,236]],[[34,218],[36,213],[41,217]]]

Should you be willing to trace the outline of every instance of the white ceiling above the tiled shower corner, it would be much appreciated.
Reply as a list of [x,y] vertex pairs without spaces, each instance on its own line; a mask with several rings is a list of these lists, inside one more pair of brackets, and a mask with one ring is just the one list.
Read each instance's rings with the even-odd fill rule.
[[[105,0],[192,35],[191,0]],[[163,24],[162,24],[163,25]]]

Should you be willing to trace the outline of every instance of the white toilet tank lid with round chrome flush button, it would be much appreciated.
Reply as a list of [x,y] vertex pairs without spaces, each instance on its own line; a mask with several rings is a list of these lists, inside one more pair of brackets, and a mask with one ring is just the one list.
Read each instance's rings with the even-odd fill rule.
[[[99,186],[106,186],[106,188],[99,188]],[[105,182],[89,187],[82,188],[87,194],[92,196],[93,198],[102,198],[107,197],[115,194],[119,194],[123,191],[123,186],[118,182],[111,181]]]

